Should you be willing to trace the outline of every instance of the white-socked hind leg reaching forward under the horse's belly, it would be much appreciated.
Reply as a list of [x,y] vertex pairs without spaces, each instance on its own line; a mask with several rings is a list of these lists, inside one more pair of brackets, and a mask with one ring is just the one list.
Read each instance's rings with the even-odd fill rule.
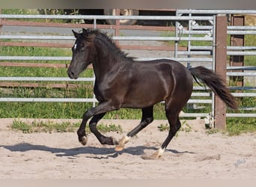
[[125,135],[121,140],[118,142],[118,145],[115,147],[116,151],[124,150],[124,145],[127,144],[127,142],[138,132],[141,131],[141,129],[144,129],[148,124],[150,124],[153,121],[153,106],[142,108],[142,119],[141,123],[138,124],[134,129],[132,129],[131,132],[129,132],[127,135]]

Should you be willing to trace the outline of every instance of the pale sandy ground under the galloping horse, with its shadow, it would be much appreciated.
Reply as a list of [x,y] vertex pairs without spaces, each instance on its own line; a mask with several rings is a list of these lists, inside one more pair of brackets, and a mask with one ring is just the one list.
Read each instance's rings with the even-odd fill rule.
[[[204,120],[186,120],[191,132],[180,131],[158,160],[145,160],[162,144],[155,120],[116,153],[88,135],[83,147],[76,132],[24,134],[10,129],[11,119],[1,119],[0,178],[25,179],[256,179],[256,134],[228,136],[206,133]],[[105,120],[121,125],[121,138],[138,120]]]

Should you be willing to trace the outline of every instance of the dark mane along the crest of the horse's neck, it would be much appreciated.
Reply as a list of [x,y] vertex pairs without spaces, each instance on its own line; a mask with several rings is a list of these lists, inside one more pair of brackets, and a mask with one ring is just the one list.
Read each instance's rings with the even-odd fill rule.
[[101,41],[103,41],[103,43],[106,44],[106,46],[109,48],[109,51],[113,53],[113,55],[115,56],[118,56],[122,59],[127,59],[128,61],[133,61],[133,57],[128,57],[128,53],[124,53],[120,47],[118,47],[114,40],[112,40],[112,38],[110,38],[108,35],[107,35],[107,32],[103,32],[103,31],[100,31],[99,29],[94,29],[94,28],[91,28],[91,29],[87,29],[86,31],[86,34],[87,36],[85,36],[84,34],[84,37],[87,39],[88,37],[90,36],[95,36],[97,37],[98,39],[100,39]]

